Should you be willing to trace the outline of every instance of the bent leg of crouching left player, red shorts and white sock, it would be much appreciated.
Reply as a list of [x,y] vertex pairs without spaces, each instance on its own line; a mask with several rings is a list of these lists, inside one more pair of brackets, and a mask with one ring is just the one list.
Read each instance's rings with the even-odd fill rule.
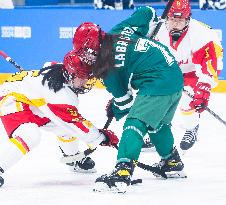
[[[7,171],[40,142],[40,128],[48,118],[34,114],[25,99],[18,93],[1,97],[0,120],[8,143],[0,150],[0,167]],[[3,134],[1,133],[1,134]]]

